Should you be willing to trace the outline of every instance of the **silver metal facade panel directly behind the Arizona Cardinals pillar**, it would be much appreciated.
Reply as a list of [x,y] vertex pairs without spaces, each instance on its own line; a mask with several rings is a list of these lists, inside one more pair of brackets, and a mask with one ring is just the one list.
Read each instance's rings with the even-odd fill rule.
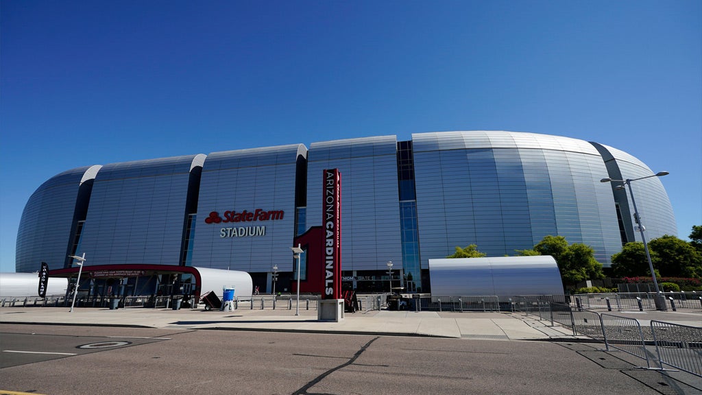
[[402,267],[395,136],[312,143],[307,158],[307,226],[322,225],[322,171],[341,173],[344,271]]

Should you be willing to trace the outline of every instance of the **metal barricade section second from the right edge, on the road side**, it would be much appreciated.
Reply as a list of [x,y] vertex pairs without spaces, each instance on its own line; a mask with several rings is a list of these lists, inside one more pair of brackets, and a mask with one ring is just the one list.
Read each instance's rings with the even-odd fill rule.
[[611,314],[601,314],[600,323],[607,351],[609,351],[609,347],[614,347],[627,354],[644,359],[646,368],[651,368],[649,356],[646,352],[644,334],[638,320],[612,316]]

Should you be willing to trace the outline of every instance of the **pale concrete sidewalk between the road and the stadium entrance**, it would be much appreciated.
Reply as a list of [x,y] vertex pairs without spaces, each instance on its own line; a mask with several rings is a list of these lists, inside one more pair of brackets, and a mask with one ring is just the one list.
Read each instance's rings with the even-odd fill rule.
[[364,335],[453,337],[464,339],[578,339],[550,322],[518,313],[369,311],[346,313],[338,323],[317,321],[316,310],[204,311],[204,309],[74,309],[3,307],[0,323],[37,325],[125,326],[198,330],[329,332]]

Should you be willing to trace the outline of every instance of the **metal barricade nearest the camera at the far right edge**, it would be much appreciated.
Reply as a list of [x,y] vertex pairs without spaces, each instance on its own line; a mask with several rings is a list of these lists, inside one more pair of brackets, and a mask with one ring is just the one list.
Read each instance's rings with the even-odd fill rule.
[[702,328],[651,320],[658,362],[702,377]]

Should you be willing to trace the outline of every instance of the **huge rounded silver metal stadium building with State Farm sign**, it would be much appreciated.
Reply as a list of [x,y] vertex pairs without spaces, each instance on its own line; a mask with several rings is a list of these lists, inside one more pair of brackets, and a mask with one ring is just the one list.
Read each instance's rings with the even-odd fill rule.
[[[53,273],[71,276],[78,268],[69,256],[86,253],[91,292],[107,292],[117,280],[130,294],[194,291],[189,267],[244,271],[261,292],[291,292],[290,247],[322,226],[322,172],[334,168],[342,183],[342,280],[359,292],[387,290],[388,280],[406,292],[428,292],[429,259],[470,244],[487,257],[515,255],[545,235],[590,245],[607,267],[623,243],[640,236],[630,196],[600,179],[653,174],[607,145],[508,131],[93,165],[53,176],[29,197],[16,271],[37,271],[46,261]],[[676,235],[658,177],[632,187],[647,237]],[[303,292],[317,269],[306,255]]]

